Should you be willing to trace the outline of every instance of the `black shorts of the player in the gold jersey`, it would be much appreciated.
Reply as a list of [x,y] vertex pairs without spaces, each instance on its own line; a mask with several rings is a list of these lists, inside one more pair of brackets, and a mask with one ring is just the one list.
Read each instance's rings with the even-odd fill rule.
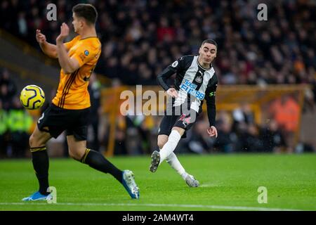
[[86,141],[88,131],[88,115],[90,108],[82,110],[66,110],[51,104],[37,122],[40,131],[46,131],[55,139],[66,131],[66,135],[74,135],[78,141]]

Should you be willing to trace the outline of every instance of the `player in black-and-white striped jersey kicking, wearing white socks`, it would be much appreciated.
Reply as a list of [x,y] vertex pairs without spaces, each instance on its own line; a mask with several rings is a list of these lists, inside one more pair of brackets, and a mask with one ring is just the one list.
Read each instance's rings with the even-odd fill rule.
[[[199,186],[199,181],[185,172],[173,151],[180,139],[185,138],[186,131],[195,124],[197,116],[202,112],[204,99],[209,118],[207,133],[210,137],[217,137],[215,96],[218,79],[211,64],[216,53],[216,41],[206,39],[199,48],[198,56],[179,58],[157,77],[159,84],[172,97],[172,101],[167,105],[166,114],[159,127],[157,142],[160,151],[152,153],[150,171],[156,172],[158,166],[166,160],[190,187]],[[174,85],[169,86],[166,80],[175,73]]]

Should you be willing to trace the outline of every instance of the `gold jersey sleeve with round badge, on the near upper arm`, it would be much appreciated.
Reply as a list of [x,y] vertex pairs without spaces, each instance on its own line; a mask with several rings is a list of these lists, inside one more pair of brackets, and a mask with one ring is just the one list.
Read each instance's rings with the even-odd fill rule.
[[75,50],[72,58],[77,59],[81,67],[93,58],[98,58],[99,52],[99,48],[96,48],[96,46],[91,46],[83,43]]

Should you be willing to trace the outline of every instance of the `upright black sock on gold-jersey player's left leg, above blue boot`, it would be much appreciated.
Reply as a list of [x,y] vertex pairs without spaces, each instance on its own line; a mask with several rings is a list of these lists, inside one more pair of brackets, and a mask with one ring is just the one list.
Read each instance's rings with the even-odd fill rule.
[[39,192],[42,195],[48,195],[49,160],[46,147],[29,148],[29,150],[31,150],[33,167],[39,180]]

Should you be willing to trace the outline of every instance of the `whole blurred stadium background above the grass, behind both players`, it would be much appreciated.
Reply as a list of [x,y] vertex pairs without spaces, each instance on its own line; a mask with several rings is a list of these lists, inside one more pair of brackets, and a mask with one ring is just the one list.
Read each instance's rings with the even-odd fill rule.
[[[29,157],[27,139],[45,108],[20,115],[22,87],[43,87],[47,103],[58,85],[58,62],[41,53],[35,30],[54,43],[62,22],[72,27],[72,6],[82,2],[98,9],[103,44],[90,85],[89,147],[107,155],[156,149],[161,117],[122,116],[119,94],[134,91],[136,84],[143,91],[161,90],[157,74],[180,56],[196,54],[201,41],[211,38],[218,42],[213,65],[219,77],[219,136],[207,138],[204,115],[176,151],[315,152],[314,1],[13,0],[0,5],[1,158]],[[57,6],[57,21],[46,19],[49,3]],[[267,21],[257,19],[259,3],[268,5]],[[65,136],[51,140],[48,152],[67,156]]]

